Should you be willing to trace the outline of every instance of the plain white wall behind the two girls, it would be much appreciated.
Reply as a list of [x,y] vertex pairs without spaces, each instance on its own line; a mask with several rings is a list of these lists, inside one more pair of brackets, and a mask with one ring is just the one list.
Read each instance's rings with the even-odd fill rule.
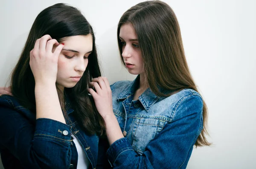
[[[164,1],[177,15],[190,70],[209,109],[213,145],[194,149],[187,168],[255,168],[256,1]],[[121,15],[142,0],[1,0],[0,86],[6,84],[35,17],[60,2],[78,7],[93,26],[109,81],[133,80],[119,61],[116,28]]]

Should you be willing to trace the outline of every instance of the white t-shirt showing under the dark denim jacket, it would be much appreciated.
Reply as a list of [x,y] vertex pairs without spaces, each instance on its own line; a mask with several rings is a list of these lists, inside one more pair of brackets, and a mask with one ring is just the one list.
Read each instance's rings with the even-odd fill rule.
[[79,140],[76,138],[75,135],[71,134],[73,137],[73,141],[76,144],[76,150],[77,150],[77,154],[78,154],[78,161],[77,161],[77,168],[78,169],[88,169],[89,165],[90,165],[90,161],[87,158],[86,153],[84,152],[84,149],[81,145],[81,143],[79,142]]

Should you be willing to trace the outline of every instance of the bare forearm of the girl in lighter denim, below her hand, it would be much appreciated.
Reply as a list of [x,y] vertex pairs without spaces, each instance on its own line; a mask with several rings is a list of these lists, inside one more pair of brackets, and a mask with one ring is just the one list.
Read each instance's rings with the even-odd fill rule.
[[113,144],[113,142],[115,142],[116,140],[124,138],[119,123],[113,112],[106,115],[104,117],[104,121],[106,124],[106,133],[110,145]]

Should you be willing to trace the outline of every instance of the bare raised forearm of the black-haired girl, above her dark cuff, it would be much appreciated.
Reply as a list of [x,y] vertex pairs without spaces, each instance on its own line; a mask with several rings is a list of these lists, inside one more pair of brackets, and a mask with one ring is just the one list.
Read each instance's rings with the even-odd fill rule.
[[49,118],[66,124],[55,84],[35,85],[36,118]]

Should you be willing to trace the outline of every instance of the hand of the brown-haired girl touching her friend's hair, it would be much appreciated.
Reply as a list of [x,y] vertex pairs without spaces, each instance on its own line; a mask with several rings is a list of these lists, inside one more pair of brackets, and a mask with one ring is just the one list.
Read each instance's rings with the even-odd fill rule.
[[[109,113],[113,114],[112,91],[105,77],[93,78],[89,84],[88,92],[93,96],[96,108],[103,118]],[[94,90],[91,88],[94,87]]]

